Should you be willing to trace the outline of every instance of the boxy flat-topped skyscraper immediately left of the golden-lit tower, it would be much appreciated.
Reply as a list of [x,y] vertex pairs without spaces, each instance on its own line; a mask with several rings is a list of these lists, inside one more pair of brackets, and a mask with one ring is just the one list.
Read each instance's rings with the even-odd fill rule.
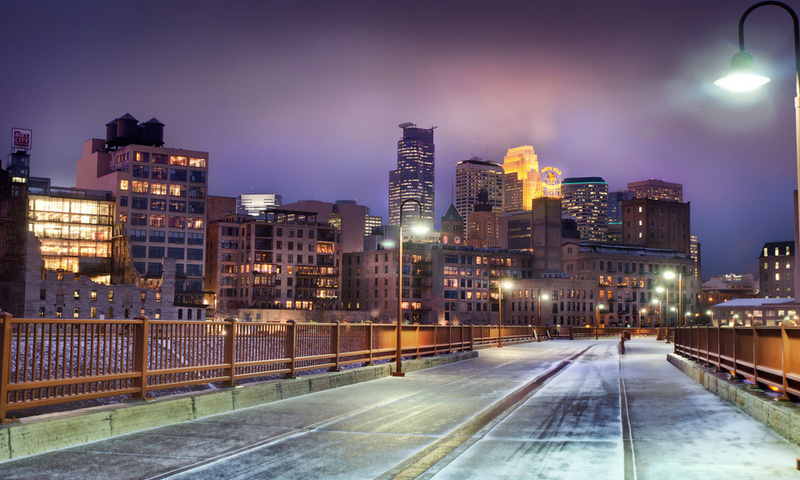
[[[464,219],[464,231],[469,238],[469,219],[478,203],[478,193],[485,189],[488,211],[501,214],[503,211],[503,167],[497,163],[483,161],[478,157],[456,164],[456,210]],[[482,211],[486,211],[482,207]]]

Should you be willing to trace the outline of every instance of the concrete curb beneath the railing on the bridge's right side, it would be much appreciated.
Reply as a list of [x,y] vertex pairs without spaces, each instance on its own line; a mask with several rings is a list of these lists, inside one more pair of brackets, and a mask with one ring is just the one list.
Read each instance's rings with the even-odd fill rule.
[[733,382],[715,367],[704,367],[674,353],[667,361],[706,390],[728,401],[744,413],[771,428],[785,439],[800,445],[800,407],[791,402],[776,401],[752,385]]

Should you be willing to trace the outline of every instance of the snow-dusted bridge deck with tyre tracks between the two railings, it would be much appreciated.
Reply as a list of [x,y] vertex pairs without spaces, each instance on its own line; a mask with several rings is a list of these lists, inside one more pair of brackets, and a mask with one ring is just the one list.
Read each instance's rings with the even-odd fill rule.
[[800,447],[653,339],[505,346],[0,463],[0,479],[792,478]]

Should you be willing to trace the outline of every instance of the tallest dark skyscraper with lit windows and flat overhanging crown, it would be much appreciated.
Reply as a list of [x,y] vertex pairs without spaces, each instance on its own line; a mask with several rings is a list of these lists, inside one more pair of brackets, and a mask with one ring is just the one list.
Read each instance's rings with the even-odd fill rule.
[[[433,129],[401,123],[403,137],[397,142],[397,169],[389,172],[389,225],[400,225],[400,206],[413,199],[422,205],[422,221],[433,228],[435,148]],[[413,223],[419,209],[414,202],[404,208],[404,223]]]

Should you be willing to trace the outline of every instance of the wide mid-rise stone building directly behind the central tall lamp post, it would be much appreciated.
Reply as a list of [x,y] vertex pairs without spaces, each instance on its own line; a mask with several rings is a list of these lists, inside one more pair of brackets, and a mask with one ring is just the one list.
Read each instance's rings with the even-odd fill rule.
[[[532,263],[525,253],[406,243],[403,319],[440,325],[496,324],[499,282],[532,278]],[[344,255],[344,308],[370,312],[374,321],[395,321],[397,287],[396,249]]]

